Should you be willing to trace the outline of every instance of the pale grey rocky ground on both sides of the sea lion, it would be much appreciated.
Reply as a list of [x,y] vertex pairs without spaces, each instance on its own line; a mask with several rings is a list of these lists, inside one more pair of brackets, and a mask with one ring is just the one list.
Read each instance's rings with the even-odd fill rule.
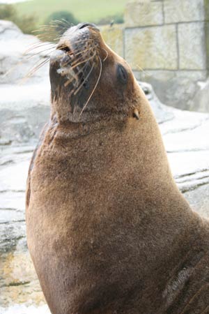
[[[47,314],[26,247],[24,191],[38,133],[49,118],[49,80],[45,67],[26,84],[16,84],[32,66],[32,61],[24,63],[20,43],[26,46],[34,38],[25,38],[17,27],[6,23],[0,21],[0,47],[18,43],[19,48],[13,49],[10,59],[6,49],[0,49],[0,314]],[[39,56],[43,58],[46,56]],[[5,77],[20,59],[23,70]],[[149,84],[140,84],[160,125],[176,183],[194,211],[208,218],[209,114],[164,106]]]

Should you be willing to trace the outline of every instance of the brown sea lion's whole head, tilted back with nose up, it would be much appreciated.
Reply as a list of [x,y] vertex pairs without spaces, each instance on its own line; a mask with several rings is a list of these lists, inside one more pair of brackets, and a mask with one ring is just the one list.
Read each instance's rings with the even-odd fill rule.
[[51,55],[50,82],[52,111],[60,123],[125,119],[133,114],[139,94],[130,66],[90,23],[63,33]]

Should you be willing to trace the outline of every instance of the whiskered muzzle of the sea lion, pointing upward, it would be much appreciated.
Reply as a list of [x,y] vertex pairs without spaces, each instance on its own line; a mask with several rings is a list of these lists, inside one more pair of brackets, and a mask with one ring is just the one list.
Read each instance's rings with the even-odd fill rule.
[[63,34],[50,58],[52,99],[61,95],[69,100],[70,111],[80,110],[95,84],[93,73],[98,64],[98,29],[94,24],[82,23]]

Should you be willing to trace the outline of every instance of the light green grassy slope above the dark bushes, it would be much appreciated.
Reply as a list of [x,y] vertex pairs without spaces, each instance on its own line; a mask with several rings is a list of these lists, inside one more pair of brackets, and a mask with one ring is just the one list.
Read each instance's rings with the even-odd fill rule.
[[[54,12],[68,11],[81,22],[95,22],[109,17],[123,17],[127,0],[33,0],[15,4],[17,12],[24,15],[35,15],[38,24],[45,21]],[[115,21],[116,22],[116,21]]]

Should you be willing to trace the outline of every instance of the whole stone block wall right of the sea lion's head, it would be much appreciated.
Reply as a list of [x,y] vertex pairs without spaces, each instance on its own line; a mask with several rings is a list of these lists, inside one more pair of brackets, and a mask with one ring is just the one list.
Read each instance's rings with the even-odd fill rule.
[[195,97],[208,77],[209,0],[129,1],[125,24],[102,27],[102,33],[163,103],[209,111],[209,102]]

